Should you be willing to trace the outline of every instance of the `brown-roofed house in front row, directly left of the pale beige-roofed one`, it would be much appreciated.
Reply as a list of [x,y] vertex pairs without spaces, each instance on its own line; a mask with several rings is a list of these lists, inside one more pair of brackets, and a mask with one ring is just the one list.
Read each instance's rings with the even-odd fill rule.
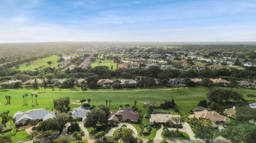
[[136,110],[118,110],[110,113],[110,116],[108,116],[108,125],[114,125],[115,121],[131,121],[137,123],[139,118],[139,112]]

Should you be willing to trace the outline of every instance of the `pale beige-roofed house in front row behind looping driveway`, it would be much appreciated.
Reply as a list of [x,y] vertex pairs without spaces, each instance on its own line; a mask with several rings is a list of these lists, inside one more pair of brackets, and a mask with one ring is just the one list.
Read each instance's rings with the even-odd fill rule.
[[180,115],[171,115],[171,114],[151,114],[150,115],[150,125],[153,125],[154,121],[156,123],[166,123],[171,118],[181,118]]

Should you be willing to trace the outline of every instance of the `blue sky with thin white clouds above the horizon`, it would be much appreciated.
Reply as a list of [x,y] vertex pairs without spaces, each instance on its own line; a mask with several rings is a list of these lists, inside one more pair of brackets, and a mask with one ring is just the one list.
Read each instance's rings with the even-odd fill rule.
[[0,42],[256,42],[255,0],[0,3]]

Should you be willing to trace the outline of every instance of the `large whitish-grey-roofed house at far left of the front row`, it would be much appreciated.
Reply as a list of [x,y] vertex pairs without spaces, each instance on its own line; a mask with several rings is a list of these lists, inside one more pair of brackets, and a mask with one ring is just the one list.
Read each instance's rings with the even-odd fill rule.
[[39,120],[39,121],[45,121],[47,119],[51,119],[55,117],[54,111],[48,111],[45,108],[39,108],[34,110],[28,110],[26,112],[16,112],[13,116],[15,119],[15,124],[26,124],[30,122],[31,120]]

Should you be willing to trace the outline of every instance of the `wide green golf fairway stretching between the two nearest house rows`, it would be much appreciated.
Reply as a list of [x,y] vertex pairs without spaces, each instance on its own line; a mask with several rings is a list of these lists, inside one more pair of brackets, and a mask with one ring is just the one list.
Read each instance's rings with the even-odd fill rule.
[[[228,88],[230,89],[230,88]],[[112,100],[111,110],[119,108],[120,105],[125,106],[125,104],[130,104],[133,106],[133,101],[137,100],[137,107],[142,111],[142,116],[146,113],[146,110],[142,108],[142,104],[156,102],[158,104],[163,103],[165,100],[171,101],[175,100],[179,108],[179,112],[183,117],[188,116],[188,112],[195,108],[198,102],[202,99],[207,99],[207,91],[209,89],[205,87],[196,88],[185,88],[179,89],[169,89],[169,88],[156,88],[156,89],[99,89],[88,91],[80,91],[77,89],[62,89],[62,91],[51,91],[47,89],[45,93],[39,93],[33,89],[3,89],[0,90],[0,112],[5,110],[10,110],[11,116],[17,111],[26,111],[36,108],[47,108],[48,110],[53,109],[53,99],[58,99],[60,97],[70,97],[71,102],[79,101],[80,99],[91,99],[91,104],[98,106],[99,104],[104,104],[105,100]],[[249,93],[254,93],[255,90],[252,89],[233,89],[238,91],[243,95]],[[39,97],[37,98],[37,105],[32,106],[32,97],[28,97],[28,106],[23,106],[22,94],[37,92]],[[5,104],[5,95],[11,95],[11,104]],[[35,99],[35,98],[33,98]],[[80,106],[80,104],[70,104],[71,108]],[[108,104],[109,106],[109,104]]]

